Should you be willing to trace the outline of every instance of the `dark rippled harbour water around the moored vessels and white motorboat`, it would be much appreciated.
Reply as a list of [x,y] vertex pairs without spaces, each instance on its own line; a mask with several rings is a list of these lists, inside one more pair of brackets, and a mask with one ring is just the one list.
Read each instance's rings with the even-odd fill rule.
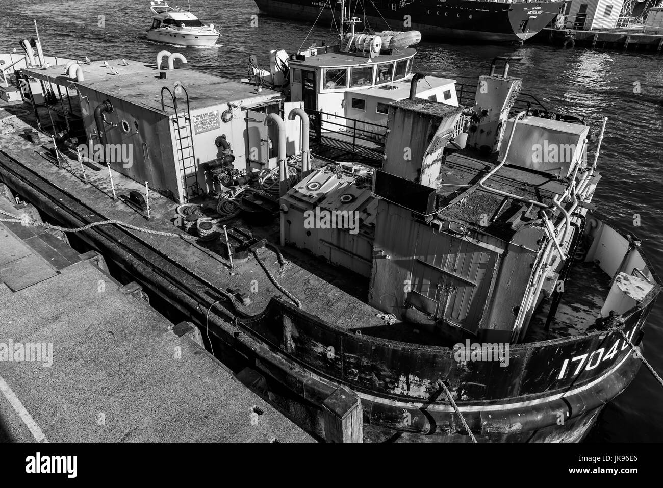
[[[180,4],[186,5],[186,0]],[[164,44],[145,38],[151,25],[148,5],[147,0],[0,0],[0,52],[32,36],[36,19],[46,54],[153,60]],[[261,16],[252,0],[192,0],[192,11],[223,35],[213,48],[178,50],[190,67],[228,78],[245,76],[251,54],[267,65],[270,49],[292,52],[309,33],[310,41],[335,38],[326,27],[311,30],[306,23]],[[99,27],[100,15],[105,27]],[[258,27],[251,27],[256,19]],[[663,274],[662,56],[536,44],[516,48],[424,43],[418,52],[418,68],[444,70],[449,78],[486,74],[497,55],[522,56],[522,62],[511,68],[511,74],[524,78],[522,91],[554,109],[596,121],[609,117],[599,159],[603,180],[593,203],[601,217],[642,239],[650,261]],[[634,93],[638,86],[640,93]],[[640,214],[640,227],[633,226],[633,214]],[[658,352],[663,347],[662,319],[660,299],[649,316],[644,339],[644,356],[659,373],[663,373],[663,354]],[[663,387],[642,367],[631,386],[605,408],[589,440],[661,441],[662,406]]]

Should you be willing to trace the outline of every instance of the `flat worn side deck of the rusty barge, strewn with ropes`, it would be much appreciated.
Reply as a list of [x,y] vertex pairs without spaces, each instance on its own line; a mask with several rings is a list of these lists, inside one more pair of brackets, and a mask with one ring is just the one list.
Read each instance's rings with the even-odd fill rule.
[[[0,104],[0,119],[17,113],[17,111],[29,109],[30,107],[27,105]],[[86,167],[85,174],[88,180],[86,184],[79,178],[82,173],[80,166],[76,167],[75,161],[70,161],[71,167],[66,166],[66,168],[60,169],[46,159],[45,147],[52,147],[52,143],[46,139],[46,136],[41,135],[43,146],[33,145],[22,137],[25,129],[36,126],[32,113],[23,115],[21,112],[17,118],[11,119],[11,125],[15,129],[12,133],[0,133],[1,151],[21,161],[21,164],[72,194],[77,200],[90,206],[105,218],[154,231],[186,235],[183,230],[174,225],[178,205],[172,200],[156,192],[150,192],[151,219],[148,220],[121,200],[113,200],[113,191],[106,168],[97,172]],[[119,172],[113,171],[113,183],[117,196],[128,195],[132,190],[145,193],[145,185],[139,184]],[[255,237],[267,238],[272,243],[279,241],[277,221],[264,227],[250,225],[239,217],[224,223],[228,227],[251,229]],[[253,257],[245,261],[235,259],[234,268],[230,269],[228,262],[221,258],[223,249],[219,242],[210,247],[204,247],[199,243],[188,244],[175,237],[164,238],[149,233],[131,232],[217,288],[239,290],[249,294],[251,298],[249,306],[237,304],[239,310],[246,314],[255,315],[262,312],[272,296],[280,295],[278,289],[271,283]],[[191,243],[191,241],[188,242]],[[290,261],[284,269],[280,269],[276,255],[271,250],[263,248],[258,253],[267,263],[272,274],[278,277],[280,284],[301,300],[306,312],[344,328],[365,330],[385,325],[384,320],[379,317],[381,312],[361,301],[367,294],[368,280],[366,278],[341,271],[333,265],[326,265],[309,253],[292,247],[283,249],[283,251],[286,259]]]

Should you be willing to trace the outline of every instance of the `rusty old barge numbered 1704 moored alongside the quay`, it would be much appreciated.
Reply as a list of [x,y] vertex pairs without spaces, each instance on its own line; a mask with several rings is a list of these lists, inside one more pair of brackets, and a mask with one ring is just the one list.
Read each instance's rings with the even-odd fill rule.
[[304,430],[578,441],[633,380],[660,280],[591,211],[605,121],[516,113],[494,66],[468,105],[416,74],[375,168],[312,153],[302,101],[181,57],[11,60],[0,180]]

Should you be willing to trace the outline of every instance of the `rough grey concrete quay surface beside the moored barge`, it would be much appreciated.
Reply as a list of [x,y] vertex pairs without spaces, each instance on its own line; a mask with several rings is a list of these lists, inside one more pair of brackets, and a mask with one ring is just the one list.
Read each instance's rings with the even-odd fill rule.
[[0,223],[0,343],[52,345],[0,361],[0,441],[312,442],[92,261]]

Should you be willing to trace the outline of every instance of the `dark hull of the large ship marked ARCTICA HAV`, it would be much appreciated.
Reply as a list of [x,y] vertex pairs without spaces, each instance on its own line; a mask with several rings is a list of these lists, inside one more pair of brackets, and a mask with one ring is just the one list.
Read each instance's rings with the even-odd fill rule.
[[[256,0],[256,3],[261,12],[273,17],[303,21],[315,21],[319,17],[320,25],[338,23],[338,7],[332,11],[315,0]],[[520,42],[546,27],[562,4],[474,0],[378,1],[365,3],[363,10],[358,7],[353,15],[363,19],[365,25],[372,29],[416,29],[428,40]]]

